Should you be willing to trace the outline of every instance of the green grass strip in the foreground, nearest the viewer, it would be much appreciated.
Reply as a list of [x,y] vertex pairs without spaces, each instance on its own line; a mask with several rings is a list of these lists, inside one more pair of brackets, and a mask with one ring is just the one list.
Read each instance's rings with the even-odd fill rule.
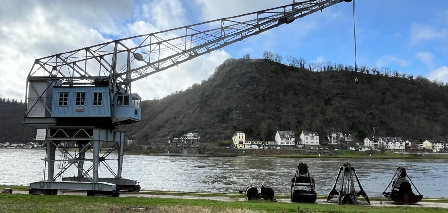
[[73,195],[0,194],[0,212],[36,213],[439,213],[447,209],[417,207],[371,207],[366,205],[328,205],[265,201],[223,202],[212,200],[144,197],[85,197]]

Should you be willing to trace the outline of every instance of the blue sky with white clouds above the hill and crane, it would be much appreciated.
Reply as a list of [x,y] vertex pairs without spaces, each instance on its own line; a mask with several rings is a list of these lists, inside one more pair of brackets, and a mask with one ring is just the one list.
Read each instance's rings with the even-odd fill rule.
[[[300,0],[297,0],[300,1]],[[25,99],[37,58],[175,27],[236,16],[292,0],[2,0],[0,97]],[[357,64],[448,83],[447,0],[356,0]],[[354,65],[352,3],[339,3],[244,42],[140,79],[132,92],[159,99],[200,83],[224,60],[264,51],[307,63]]]

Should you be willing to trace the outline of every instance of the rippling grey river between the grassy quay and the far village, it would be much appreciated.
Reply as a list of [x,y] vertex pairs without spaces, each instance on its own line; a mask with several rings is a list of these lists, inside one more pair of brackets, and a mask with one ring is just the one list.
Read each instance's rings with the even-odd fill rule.
[[[0,184],[28,185],[41,181],[44,161],[40,159],[44,157],[45,150],[0,149]],[[381,193],[399,166],[406,168],[412,182],[424,197],[448,197],[448,160],[437,159],[125,155],[122,177],[140,181],[142,189],[150,190],[238,193],[238,190],[253,183],[259,189],[261,184],[266,184],[275,193],[289,194],[295,166],[304,162],[310,167],[311,176],[316,179],[317,194],[328,195],[339,168],[347,161],[355,167],[362,187],[370,197],[382,196]],[[108,161],[108,164],[112,168],[117,165],[115,160]],[[64,177],[72,177],[74,174],[72,169],[64,173]],[[113,177],[104,166],[100,167],[99,176]]]

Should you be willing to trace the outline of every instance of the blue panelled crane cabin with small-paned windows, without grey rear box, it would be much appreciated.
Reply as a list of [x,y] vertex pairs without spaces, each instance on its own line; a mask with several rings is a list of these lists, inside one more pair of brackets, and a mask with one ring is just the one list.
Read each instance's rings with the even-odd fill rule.
[[113,129],[141,120],[140,96],[116,93],[111,97],[108,86],[55,86],[52,100],[51,117],[61,126]]

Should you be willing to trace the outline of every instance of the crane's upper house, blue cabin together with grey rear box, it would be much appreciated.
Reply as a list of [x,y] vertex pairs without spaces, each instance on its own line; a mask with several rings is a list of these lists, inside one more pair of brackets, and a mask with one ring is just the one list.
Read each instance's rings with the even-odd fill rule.
[[[141,97],[109,86],[62,86],[31,81],[25,123],[50,126],[95,126],[115,129],[141,121]],[[41,86],[41,88],[39,88]],[[34,90],[45,90],[39,95]],[[39,97],[40,96],[40,97]],[[44,100],[44,101],[39,101]],[[46,100],[46,101],[45,101]]]

